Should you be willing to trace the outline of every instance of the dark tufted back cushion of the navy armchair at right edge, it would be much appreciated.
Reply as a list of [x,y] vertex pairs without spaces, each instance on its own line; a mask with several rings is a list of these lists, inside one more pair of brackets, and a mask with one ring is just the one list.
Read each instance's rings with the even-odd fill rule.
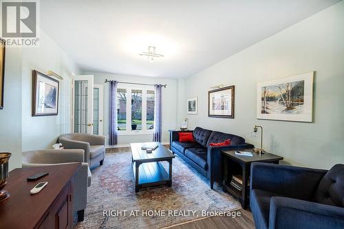
[[321,179],[315,200],[320,204],[344,207],[344,164],[334,165]]

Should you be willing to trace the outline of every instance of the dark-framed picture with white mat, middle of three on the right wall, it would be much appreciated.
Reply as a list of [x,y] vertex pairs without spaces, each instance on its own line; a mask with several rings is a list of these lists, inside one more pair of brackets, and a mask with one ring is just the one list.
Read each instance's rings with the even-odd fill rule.
[[234,92],[234,86],[208,91],[208,116],[234,118]]

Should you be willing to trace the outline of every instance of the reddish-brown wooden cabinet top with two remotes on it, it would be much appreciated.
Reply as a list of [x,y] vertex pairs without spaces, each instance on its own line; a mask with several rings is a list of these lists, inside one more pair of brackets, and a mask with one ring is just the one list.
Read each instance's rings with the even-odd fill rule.
[[[10,192],[10,197],[0,202],[0,228],[34,228],[80,165],[81,163],[56,164],[10,171],[8,184],[4,188]],[[41,172],[49,175],[34,182],[26,180]],[[30,190],[39,182],[48,183],[41,192],[31,195]]]

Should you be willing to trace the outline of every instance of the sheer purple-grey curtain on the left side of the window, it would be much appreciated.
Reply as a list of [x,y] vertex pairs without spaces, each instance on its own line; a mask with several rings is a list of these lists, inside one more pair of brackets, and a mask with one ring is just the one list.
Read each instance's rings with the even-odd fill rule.
[[110,81],[109,89],[109,145],[117,144],[117,81]]

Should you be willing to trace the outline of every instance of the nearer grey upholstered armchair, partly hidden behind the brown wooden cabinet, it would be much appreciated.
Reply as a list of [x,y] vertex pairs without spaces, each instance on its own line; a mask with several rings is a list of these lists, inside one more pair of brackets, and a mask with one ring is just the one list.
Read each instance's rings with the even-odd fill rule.
[[73,177],[73,211],[78,212],[78,221],[83,221],[87,204],[87,187],[91,186],[92,175],[88,164],[84,162],[84,151],[82,149],[27,151],[23,152],[22,162],[23,168],[82,162],[81,167]]

